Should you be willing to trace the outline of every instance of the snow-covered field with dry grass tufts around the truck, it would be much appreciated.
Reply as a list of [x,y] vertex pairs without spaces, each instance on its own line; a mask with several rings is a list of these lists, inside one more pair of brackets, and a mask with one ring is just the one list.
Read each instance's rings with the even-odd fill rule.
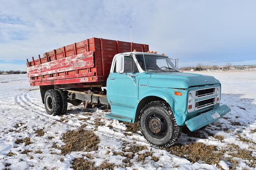
[[[176,153],[174,147],[151,147],[140,132],[127,132],[124,123],[107,119],[102,109],[84,111],[82,106],[69,104],[65,115],[47,115],[38,87],[30,87],[26,75],[0,75],[0,170],[70,169],[74,158],[79,157],[95,162],[94,167],[105,161],[115,169],[255,168],[256,72],[201,73],[215,76],[222,82],[221,104],[230,106],[231,112],[204,129],[194,133],[184,131],[176,148],[186,154]],[[64,145],[62,135],[84,124],[83,129],[94,131],[99,137],[98,149],[61,154],[56,146]],[[44,133],[40,135],[40,131],[36,131],[39,129]],[[193,148],[197,143],[214,147],[209,157],[222,153],[218,161],[209,163],[200,155],[190,155],[186,148]],[[131,146],[140,149],[134,152],[128,166],[124,163],[124,154]],[[87,153],[91,157],[85,156]],[[148,155],[140,159],[143,153]]]

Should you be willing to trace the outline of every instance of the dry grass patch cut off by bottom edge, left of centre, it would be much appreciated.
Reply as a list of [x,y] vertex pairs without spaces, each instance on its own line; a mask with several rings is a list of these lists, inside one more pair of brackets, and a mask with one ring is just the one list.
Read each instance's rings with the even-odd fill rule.
[[72,162],[74,170],[114,170],[114,164],[107,161],[102,162],[100,166],[94,167],[95,162],[86,160],[84,158],[75,158]]

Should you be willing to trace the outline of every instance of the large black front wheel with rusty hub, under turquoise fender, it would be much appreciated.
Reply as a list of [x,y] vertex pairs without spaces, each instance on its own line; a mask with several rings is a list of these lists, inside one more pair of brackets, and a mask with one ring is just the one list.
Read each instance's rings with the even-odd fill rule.
[[159,148],[170,147],[181,134],[181,127],[177,125],[171,107],[163,101],[153,101],[144,106],[139,122],[142,136]]

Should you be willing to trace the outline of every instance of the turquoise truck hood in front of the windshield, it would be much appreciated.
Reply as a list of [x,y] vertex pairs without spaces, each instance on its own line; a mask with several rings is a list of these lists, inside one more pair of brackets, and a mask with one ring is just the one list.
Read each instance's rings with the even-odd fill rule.
[[220,84],[213,76],[183,72],[151,72],[148,80],[149,87],[182,88],[191,86]]

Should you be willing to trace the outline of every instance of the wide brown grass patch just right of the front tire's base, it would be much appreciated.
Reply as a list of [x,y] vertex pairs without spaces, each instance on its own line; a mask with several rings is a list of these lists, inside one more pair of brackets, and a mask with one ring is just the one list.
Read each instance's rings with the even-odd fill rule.
[[204,145],[203,143],[178,144],[166,148],[166,150],[193,163],[203,161],[207,164],[217,164],[224,154],[223,152],[216,152],[217,148],[215,146]]

